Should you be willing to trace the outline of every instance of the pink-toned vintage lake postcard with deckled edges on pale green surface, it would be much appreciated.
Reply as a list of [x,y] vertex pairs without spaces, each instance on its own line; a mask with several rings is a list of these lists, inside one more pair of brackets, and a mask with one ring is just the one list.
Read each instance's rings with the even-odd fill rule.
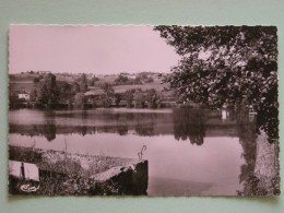
[[280,196],[276,26],[10,25],[9,194]]

